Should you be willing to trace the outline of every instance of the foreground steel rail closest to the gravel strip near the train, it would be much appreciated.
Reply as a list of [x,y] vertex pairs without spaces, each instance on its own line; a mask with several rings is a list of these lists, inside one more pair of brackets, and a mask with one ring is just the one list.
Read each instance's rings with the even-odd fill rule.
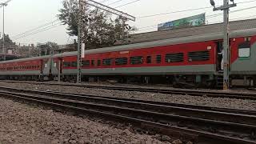
[[[256,125],[256,111],[255,110],[232,110],[224,108],[214,108],[208,106],[194,106],[175,104],[167,102],[150,102],[136,99],[126,98],[110,98],[96,95],[82,95],[82,94],[67,94],[60,92],[38,91],[38,90],[21,90],[9,87],[1,87],[0,90],[9,90],[12,92],[22,92],[26,94],[42,94],[49,95],[56,98],[68,98],[86,102],[97,102],[108,104],[110,106],[125,105],[126,107],[139,108],[144,110],[151,110],[155,112],[164,111],[166,114],[179,114],[183,116],[194,116],[198,118],[222,119],[227,122],[250,123]],[[253,120],[254,119],[254,120]]]

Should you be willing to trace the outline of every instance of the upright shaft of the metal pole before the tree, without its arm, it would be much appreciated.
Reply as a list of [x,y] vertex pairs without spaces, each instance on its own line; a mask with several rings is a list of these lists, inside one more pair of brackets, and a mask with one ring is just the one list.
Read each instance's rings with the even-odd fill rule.
[[77,83],[81,82],[81,65],[82,65],[82,58],[81,58],[81,44],[82,44],[82,0],[79,0],[79,12],[78,12],[78,62],[77,62]]

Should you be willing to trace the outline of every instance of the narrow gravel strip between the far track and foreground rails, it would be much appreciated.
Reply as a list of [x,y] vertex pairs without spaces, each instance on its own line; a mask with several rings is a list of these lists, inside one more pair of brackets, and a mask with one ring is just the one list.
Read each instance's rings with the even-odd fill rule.
[[177,95],[177,94],[156,94],[138,91],[123,91],[123,90],[104,90],[83,88],[76,86],[45,86],[38,84],[26,83],[6,83],[0,82],[0,86],[10,86],[25,90],[50,90],[61,91],[71,94],[94,94],[100,96],[109,96],[114,98],[134,98],[158,102],[175,102],[190,105],[200,106],[214,106],[230,109],[243,109],[243,110],[256,110],[256,101],[254,100],[241,100],[234,98],[208,98],[190,95]]

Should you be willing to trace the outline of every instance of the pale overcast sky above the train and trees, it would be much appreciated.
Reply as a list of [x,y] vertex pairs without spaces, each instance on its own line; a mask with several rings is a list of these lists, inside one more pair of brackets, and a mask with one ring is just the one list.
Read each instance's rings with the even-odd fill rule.
[[[103,0],[97,0],[101,2]],[[105,0],[104,4],[110,4],[112,2],[117,2],[118,0]],[[162,14],[178,10],[188,10],[210,6],[210,0],[140,0],[139,2],[134,2],[135,0],[122,0],[117,2],[112,7],[121,6],[118,10],[122,10],[128,14],[134,15],[135,17],[142,17],[151,14]],[[235,2],[247,2],[250,0],[234,0]],[[0,0],[0,2],[6,2],[6,0]],[[130,5],[122,6],[128,2],[134,2]],[[215,0],[216,5],[221,5],[222,0]],[[232,10],[239,10],[251,6],[256,6],[255,2],[238,4],[237,7],[232,8]],[[57,42],[58,44],[66,44],[73,42],[73,38],[70,38],[66,34],[66,26],[56,26],[53,29],[43,31],[38,34],[30,35],[28,37],[18,37],[18,34],[26,32],[26,30],[31,30],[42,26],[47,22],[52,22],[57,19],[56,15],[58,10],[62,8],[62,0],[12,0],[6,6],[6,28],[5,33],[13,38],[14,42],[20,42],[22,44],[29,44],[37,42]],[[231,10],[231,11],[232,11]],[[255,9],[242,10],[239,12],[231,13],[230,19],[242,19],[243,17],[256,18],[254,14]],[[222,21],[222,16],[210,18],[211,14],[219,14],[221,11],[213,12],[212,9],[205,10],[193,10],[189,12],[176,13],[176,14],[166,14],[157,17],[150,18],[138,18],[136,22],[130,22],[132,26],[136,26],[140,29],[138,32],[146,32],[157,30],[158,23],[168,22],[178,18],[184,18],[192,16],[194,14],[202,14],[206,12],[206,21],[219,22]],[[2,8],[0,9],[0,32],[2,33]],[[58,22],[55,22],[56,24]],[[53,24],[53,25],[54,25]],[[146,27],[152,26],[152,27]],[[143,29],[143,27],[146,27]],[[137,33],[138,33],[137,32]]]

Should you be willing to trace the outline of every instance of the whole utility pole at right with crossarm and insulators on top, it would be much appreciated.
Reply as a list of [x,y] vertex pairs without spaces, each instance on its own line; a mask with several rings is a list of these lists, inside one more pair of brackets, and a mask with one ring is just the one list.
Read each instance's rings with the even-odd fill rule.
[[210,4],[214,6],[214,11],[223,10],[223,49],[224,49],[224,72],[223,72],[223,90],[230,89],[230,8],[237,6],[234,0],[230,0],[233,4],[229,4],[229,0],[223,0],[223,6],[215,7],[214,0],[210,0]]

